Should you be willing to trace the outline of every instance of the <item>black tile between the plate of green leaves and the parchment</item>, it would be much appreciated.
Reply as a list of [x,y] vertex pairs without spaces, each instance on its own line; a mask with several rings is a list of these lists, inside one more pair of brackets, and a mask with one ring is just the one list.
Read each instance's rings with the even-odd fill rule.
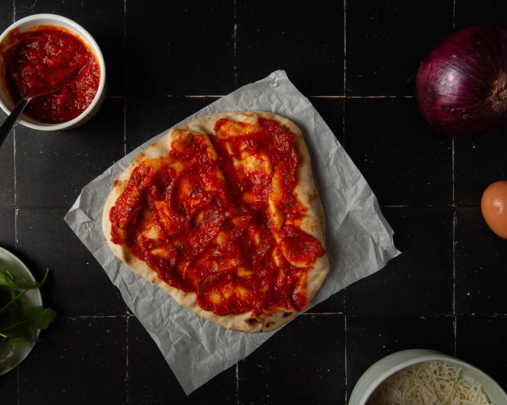
[[[64,209],[19,209],[17,255],[40,279],[50,269],[43,298],[61,316],[125,316],[119,290],[63,221]],[[58,237],[48,237],[58,235]],[[48,252],[65,252],[69,256]]]

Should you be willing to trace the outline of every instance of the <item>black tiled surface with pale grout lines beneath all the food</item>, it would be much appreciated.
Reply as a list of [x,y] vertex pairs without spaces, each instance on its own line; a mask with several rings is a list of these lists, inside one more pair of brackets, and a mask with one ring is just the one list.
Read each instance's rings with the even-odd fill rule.
[[[17,124],[0,149],[0,246],[37,278],[51,269],[42,294],[58,312],[44,341],[0,377],[0,402],[345,404],[373,362],[408,348],[472,362],[507,389],[507,241],[480,211],[484,189],[507,179],[507,128],[443,136],[420,116],[410,82],[454,28],[507,25],[507,3],[13,0],[0,3],[0,31],[37,13],[95,37],[107,94],[84,126]],[[403,255],[187,397],[63,217],[125,153],[277,69],[366,177]]]

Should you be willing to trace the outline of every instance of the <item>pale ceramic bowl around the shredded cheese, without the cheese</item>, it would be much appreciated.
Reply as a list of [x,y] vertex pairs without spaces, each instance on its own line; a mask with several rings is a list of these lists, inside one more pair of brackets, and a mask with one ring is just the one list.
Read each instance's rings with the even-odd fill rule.
[[443,361],[449,365],[462,368],[462,376],[472,378],[476,383],[480,384],[491,402],[498,405],[507,404],[507,394],[491,377],[478,368],[439,351],[409,349],[389,354],[365,371],[352,390],[348,405],[366,405],[377,387],[388,377],[406,367],[431,360]]

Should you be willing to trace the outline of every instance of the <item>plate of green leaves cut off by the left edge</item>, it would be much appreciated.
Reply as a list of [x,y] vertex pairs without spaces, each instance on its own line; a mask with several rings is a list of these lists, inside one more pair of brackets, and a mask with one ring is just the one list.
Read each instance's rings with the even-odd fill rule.
[[19,365],[56,316],[42,305],[41,287],[15,255],[0,247],[0,375]]

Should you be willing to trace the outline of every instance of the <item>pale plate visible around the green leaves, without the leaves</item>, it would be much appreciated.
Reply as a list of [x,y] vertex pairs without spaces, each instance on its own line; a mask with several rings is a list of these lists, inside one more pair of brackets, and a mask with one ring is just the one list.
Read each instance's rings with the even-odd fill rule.
[[[33,282],[33,277],[28,267],[14,256],[11,252],[0,247],[0,262],[9,270],[18,282]],[[26,306],[42,305],[41,291],[36,288],[28,290],[19,297],[19,301]],[[40,331],[35,331],[35,336],[39,337]],[[0,376],[11,371],[23,361],[31,349],[35,345],[34,342],[23,343],[21,346],[11,347],[9,343],[0,343]]]

